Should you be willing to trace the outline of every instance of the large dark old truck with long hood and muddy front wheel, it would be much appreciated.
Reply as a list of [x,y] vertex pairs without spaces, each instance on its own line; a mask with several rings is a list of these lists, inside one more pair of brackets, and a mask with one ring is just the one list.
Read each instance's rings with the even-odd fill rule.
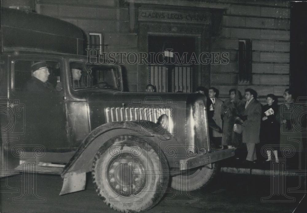
[[[208,184],[234,148],[212,146],[206,97],[125,92],[121,67],[92,63],[84,43],[68,22],[1,8],[1,176],[59,174],[64,195],[84,190],[91,173],[103,202],[123,212]],[[25,89],[37,62],[56,91]]]

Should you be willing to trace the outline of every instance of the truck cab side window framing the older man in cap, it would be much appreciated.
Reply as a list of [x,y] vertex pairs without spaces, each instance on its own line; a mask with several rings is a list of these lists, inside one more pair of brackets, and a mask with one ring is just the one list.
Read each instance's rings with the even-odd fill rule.
[[12,89],[28,92],[60,91],[60,73],[60,63],[57,61],[15,60]]

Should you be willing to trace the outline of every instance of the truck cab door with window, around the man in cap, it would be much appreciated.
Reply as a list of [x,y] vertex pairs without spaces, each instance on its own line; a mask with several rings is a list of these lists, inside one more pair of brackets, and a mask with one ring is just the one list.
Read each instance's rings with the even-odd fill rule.
[[[27,89],[28,82],[35,78],[32,76],[33,64],[41,61],[45,61],[49,69],[48,82],[52,85],[50,87],[57,88],[58,91]],[[9,62],[9,101],[17,101],[21,105],[18,109],[18,105],[13,105],[15,112],[18,110],[20,114],[18,125],[15,126],[17,129],[14,130],[20,133],[17,143],[39,144],[45,146],[46,150],[67,149],[70,144],[66,134],[64,86],[57,86],[64,78],[62,60],[47,56],[14,56],[10,57]]]

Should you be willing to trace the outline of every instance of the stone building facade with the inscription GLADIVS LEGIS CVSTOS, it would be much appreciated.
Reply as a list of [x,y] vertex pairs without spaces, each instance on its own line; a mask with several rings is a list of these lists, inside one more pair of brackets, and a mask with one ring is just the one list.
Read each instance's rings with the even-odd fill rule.
[[[20,4],[21,1],[16,2]],[[145,91],[148,83],[159,82],[157,90],[161,92],[193,92],[196,86],[214,86],[220,90],[221,98],[226,98],[231,88],[238,88],[242,93],[245,88],[253,88],[263,101],[268,93],[282,96],[290,84],[290,2],[28,2],[37,13],[57,17],[80,27],[87,36],[87,45],[95,38],[96,43],[101,42],[99,48],[106,53],[164,52],[166,48],[173,48],[174,51],[188,51],[190,55],[194,52],[197,57],[206,52],[211,57],[210,63],[165,66],[165,69],[153,64],[129,64],[124,58],[122,67],[128,91]],[[12,3],[7,4],[12,6]],[[6,1],[2,6],[6,6]],[[214,58],[211,53],[214,52],[227,53],[229,60],[220,62],[219,56],[217,63],[212,63]],[[240,65],[242,54],[248,60],[240,62]],[[245,67],[243,70],[242,66]]]

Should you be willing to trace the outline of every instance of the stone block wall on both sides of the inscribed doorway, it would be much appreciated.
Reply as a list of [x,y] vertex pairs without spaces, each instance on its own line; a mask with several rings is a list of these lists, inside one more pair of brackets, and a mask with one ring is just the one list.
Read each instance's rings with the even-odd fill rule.
[[[181,2],[185,2],[184,0]],[[254,88],[260,97],[267,93],[282,96],[289,86],[290,2],[221,0],[228,4],[221,27],[211,39],[211,51],[229,52],[230,63],[210,66],[210,86],[227,98],[228,90]],[[208,5],[214,7],[214,2]],[[101,33],[105,52],[137,52],[138,35],[130,32],[129,8],[119,0],[37,0],[38,13],[60,18],[79,26],[84,32]],[[252,42],[252,82],[238,85],[238,43]],[[129,91],[137,91],[142,79],[138,64],[123,69]]]

